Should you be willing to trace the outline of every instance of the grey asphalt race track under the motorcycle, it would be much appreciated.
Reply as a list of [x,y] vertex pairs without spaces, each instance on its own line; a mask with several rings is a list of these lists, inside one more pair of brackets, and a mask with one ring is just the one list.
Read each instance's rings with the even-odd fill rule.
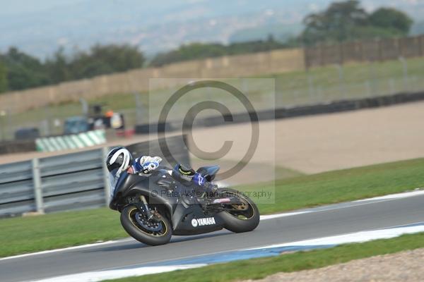
[[383,197],[297,212],[300,213],[261,220],[258,228],[250,233],[218,231],[174,236],[170,244],[158,247],[124,239],[104,245],[0,259],[0,281],[32,281],[418,223],[424,221],[424,194]]

